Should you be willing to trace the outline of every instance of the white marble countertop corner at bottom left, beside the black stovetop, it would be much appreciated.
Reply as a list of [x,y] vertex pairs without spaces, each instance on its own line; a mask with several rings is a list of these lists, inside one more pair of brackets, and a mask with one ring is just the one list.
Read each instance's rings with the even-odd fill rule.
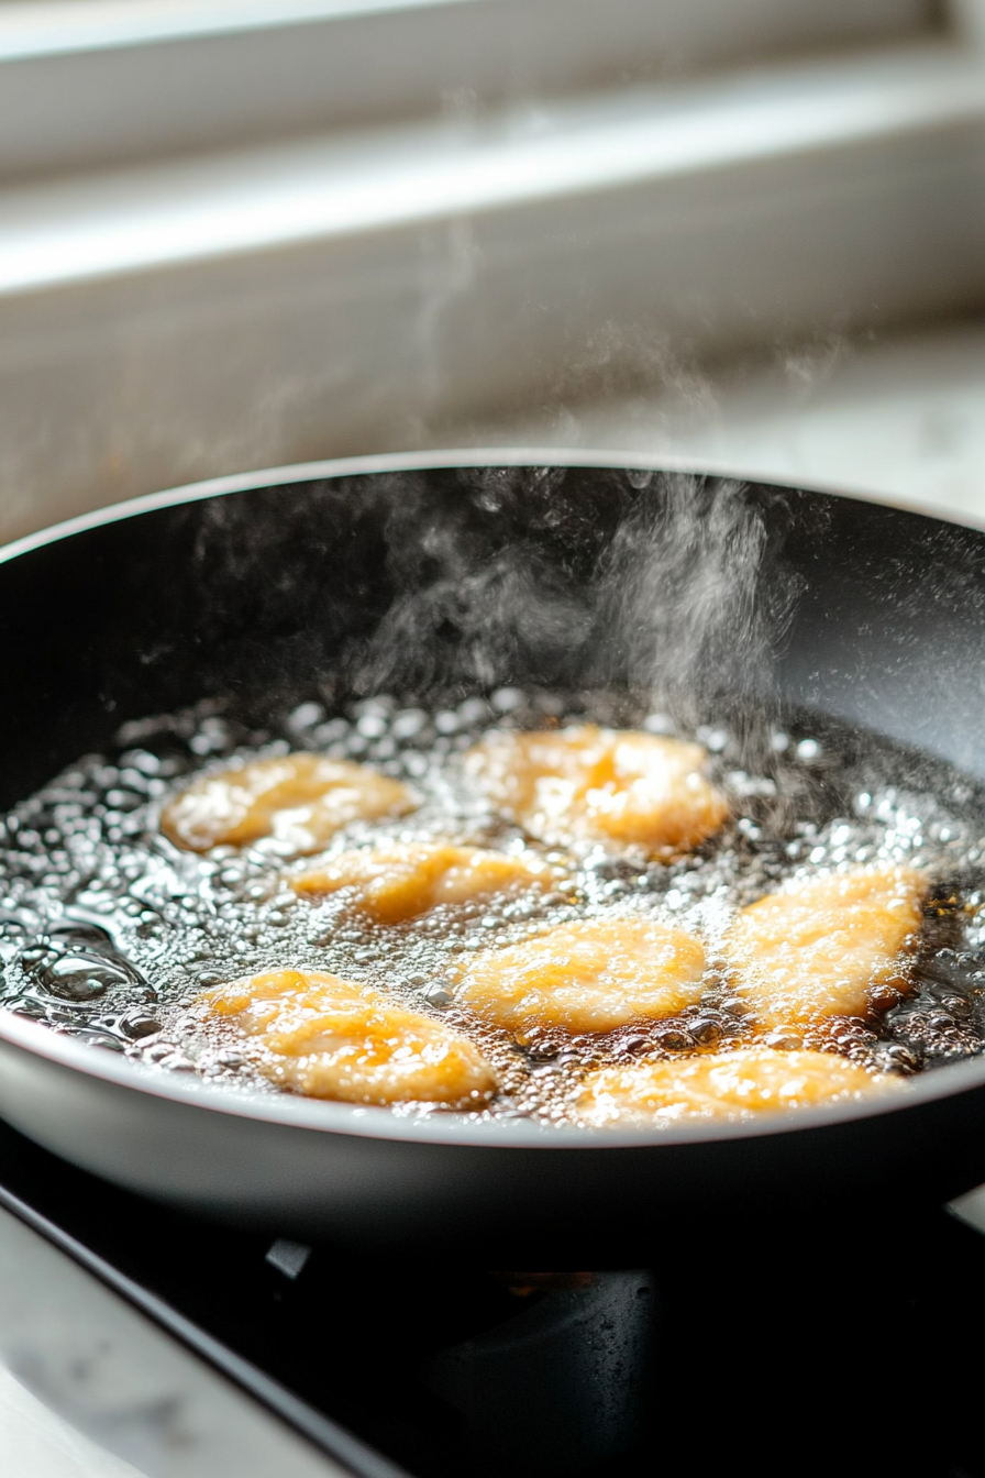
[[3,1478],[344,1478],[176,1339],[0,1210]]

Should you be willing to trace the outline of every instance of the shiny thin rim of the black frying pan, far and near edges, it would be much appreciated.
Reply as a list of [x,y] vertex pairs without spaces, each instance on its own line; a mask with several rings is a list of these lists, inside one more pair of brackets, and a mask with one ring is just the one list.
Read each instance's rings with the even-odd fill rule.
[[[699,476],[728,477],[753,482],[763,486],[787,488],[750,474],[730,463],[697,460],[670,454],[642,454],[638,451],[598,451],[538,446],[487,446],[458,448],[413,452],[385,452],[363,457],[326,458],[310,463],[284,464],[247,473],[232,473],[199,482],[167,488],[159,492],[108,504],[62,520],[50,528],[28,534],[0,547],[0,565],[30,554],[92,529],[117,523],[143,513],[177,507],[183,503],[198,503],[213,497],[227,497],[263,488],[289,486],[303,482],[318,482],[328,477],[360,476],[385,471],[427,471],[430,469],[484,467],[484,466],[546,466],[546,467],[613,467],[645,471],[682,471]],[[919,503],[888,498],[877,494],[859,494],[845,486],[812,483],[808,489],[854,503],[870,503],[896,508],[939,523],[953,523],[985,532],[985,519],[979,523],[953,510],[929,508]],[[224,1089],[198,1079],[185,1080],[168,1073],[170,1082],[161,1073],[140,1063],[121,1061],[108,1052],[99,1052],[84,1042],[52,1032],[35,1021],[0,1011],[0,1043],[34,1057],[46,1058],[56,1067],[80,1072],[87,1077],[108,1085],[162,1098],[176,1106],[204,1108],[238,1119],[257,1120],[285,1128],[307,1129],[322,1134],[347,1135],[363,1140],[388,1140],[433,1145],[456,1145],[461,1148],[502,1147],[530,1150],[600,1150],[600,1148],[659,1148],[666,1145],[715,1144],[734,1140],[759,1140],[777,1134],[805,1134],[824,1131],[839,1123],[882,1117],[889,1113],[905,1113],[927,1103],[958,1097],[976,1088],[985,1088],[985,1057],[951,1063],[907,1079],[899,1094],[877,1095],[862,1104],[827,1104],[800,1108],[786,1114],[766,1116],[766,1122],[744,1120],[725,1123],[679,1123],[666,1128],[589,1128],[551,1126],[533,1120],[484,1120],[470,1122],[449,1113],[402,1116],[391,1108],[310,1100],[300,1095],[248,1097],[239,1091]]]

